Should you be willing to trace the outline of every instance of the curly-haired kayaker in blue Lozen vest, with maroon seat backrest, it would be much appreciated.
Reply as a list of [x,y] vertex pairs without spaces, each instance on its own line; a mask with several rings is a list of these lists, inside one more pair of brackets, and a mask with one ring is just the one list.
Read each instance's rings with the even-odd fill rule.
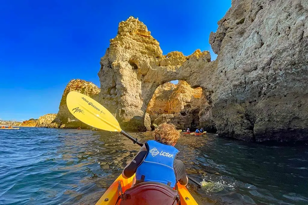
[[[134,201],[139,194],[149,197],[152,204],[155,204],[157,197],[166,198],[165,204],[178,202],[179,196],[174,190],[176,183],[184,186],[188,183],[184,163],[175,159],[179,151],[174,145],[179,137],[180,132],[172,124],[162,123],[154,130],[155,140],[148,140],[122,172],[125,179],[136,173],[136,182],[121,196],[120,204],[141,203]],[[131,199],[123,200],[128,195]]]

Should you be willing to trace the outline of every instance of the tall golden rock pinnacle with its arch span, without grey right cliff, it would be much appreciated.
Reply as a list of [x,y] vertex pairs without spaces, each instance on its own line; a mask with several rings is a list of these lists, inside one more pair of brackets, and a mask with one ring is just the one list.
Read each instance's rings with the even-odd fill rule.
[[[150,128],[146,110],[156,88],[172,80],[195,87],[210,81],[215,68],[210,59],[208,51],[200,50],[190,56],[177,51],[163,55],[147,27],[130,17],[120,22],[117,36],[101,58],[99,102],[115,114],[124,130],[144,131]],[[200,72],[202,79],[191,76]]]

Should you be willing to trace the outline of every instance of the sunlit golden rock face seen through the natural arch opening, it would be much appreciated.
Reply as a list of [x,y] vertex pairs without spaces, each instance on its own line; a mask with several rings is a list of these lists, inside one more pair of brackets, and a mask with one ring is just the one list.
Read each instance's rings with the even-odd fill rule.
[[172,123],[179,129],[199,126],[202,89],[191,88],[185,81],[177,85],[160,85],[148,104],[147,113],[152,123]]

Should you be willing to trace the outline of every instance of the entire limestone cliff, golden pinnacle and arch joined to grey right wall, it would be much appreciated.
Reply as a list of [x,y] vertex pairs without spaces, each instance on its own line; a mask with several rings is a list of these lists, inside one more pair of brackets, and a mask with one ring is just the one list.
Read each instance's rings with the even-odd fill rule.
[[202,89],[200,123],[213,123],[221,136],[307,140],[307,9],[305,0],[233,0],[210,35],[215,61],[200,50],[163,55],[147,27],[130,17],[101,58],[99,102],[123,129],[143,131],[156,88],[184,80]]

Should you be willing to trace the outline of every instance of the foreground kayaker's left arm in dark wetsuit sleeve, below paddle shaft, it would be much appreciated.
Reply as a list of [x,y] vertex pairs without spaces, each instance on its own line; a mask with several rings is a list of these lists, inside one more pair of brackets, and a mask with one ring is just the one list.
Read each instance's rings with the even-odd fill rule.
[[143,145],[137,155],[134,157],[134,159],[123,169],[122,171],[122,177],[124,179],[128,179],[132,177],[137,171],[137,168],[139,165],[143,162],[144,157],[147,154],[147,148],[145,145]]

